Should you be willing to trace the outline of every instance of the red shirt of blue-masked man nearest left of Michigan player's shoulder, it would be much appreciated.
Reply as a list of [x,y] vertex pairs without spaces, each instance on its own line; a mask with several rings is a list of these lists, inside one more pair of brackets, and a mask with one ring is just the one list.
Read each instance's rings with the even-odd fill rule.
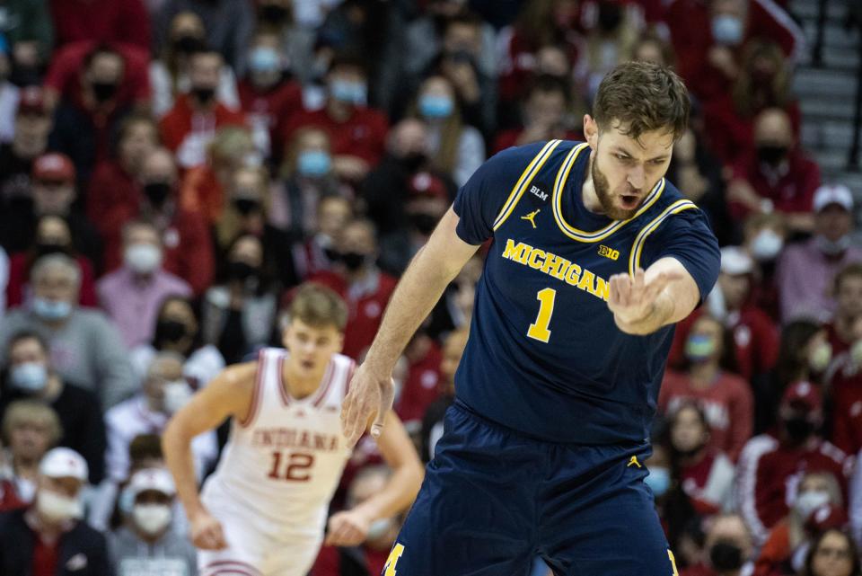
[[344,122],[330,118],[326,108],[301,111],[287,122],[280,141],[287,143],[296,130],[311,126],[322,128],[330,135],[333,155],[358,156],[372,166],[383,157],[389,121],[380,111],[357,106]]

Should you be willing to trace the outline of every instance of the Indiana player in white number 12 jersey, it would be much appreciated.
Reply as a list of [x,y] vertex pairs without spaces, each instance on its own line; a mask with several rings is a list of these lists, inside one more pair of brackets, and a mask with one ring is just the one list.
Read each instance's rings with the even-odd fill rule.
[[[347,307],[329,288],[296,293],[286,350],[226,368],[177,412],[163,451],[198,547],[200,576],[305,576],[350,448],[339,413],[353,360],[339,354]],[[189,442],[232,416],[216,472],[198,496]],[[423,470],[398,417],[377,439],[393,474],[383,492],[329,520],[327,544],[358,545],[376,519],[416,496]]]

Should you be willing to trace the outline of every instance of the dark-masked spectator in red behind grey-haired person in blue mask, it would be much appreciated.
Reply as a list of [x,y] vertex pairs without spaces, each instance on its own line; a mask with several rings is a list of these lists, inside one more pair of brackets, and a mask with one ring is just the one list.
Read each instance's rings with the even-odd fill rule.
[[36,221],[35,244],[26,252],[14,253],[9,261],[9,283],[6,287],[6,302],[10,307],[30,302],[32,287],[30,273],[33,264],[42,256],[60,253],[75,259],[81,268],[81,290],[78,304],[96,306],[96,280],[92,262],[77,253],[72,244],[72,231],[66,219],[59,216],[43,216]]

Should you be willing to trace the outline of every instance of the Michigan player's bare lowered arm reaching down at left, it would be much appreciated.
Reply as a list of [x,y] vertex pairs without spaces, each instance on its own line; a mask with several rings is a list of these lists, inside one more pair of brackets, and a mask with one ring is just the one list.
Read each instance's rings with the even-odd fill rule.
[[342,429],[349,446],[356,444],[365,432],[369,419],[374,419],[372,436],[380,435],[386,414],[392,407],[391,375],[395,362],[446,286],[479,249],[477,245],[464,242],[455,232],[458,220],[458,215],[449,208],[392,294],[380,330],[365,362],[356,369],[341,411]]

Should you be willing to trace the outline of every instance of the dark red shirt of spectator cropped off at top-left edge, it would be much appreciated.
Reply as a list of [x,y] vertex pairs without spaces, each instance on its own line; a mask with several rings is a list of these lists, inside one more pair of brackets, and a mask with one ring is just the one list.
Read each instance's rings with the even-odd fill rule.
[[141,0],[51,0],[57,46],[78,40],[150,49],[150,14]]

